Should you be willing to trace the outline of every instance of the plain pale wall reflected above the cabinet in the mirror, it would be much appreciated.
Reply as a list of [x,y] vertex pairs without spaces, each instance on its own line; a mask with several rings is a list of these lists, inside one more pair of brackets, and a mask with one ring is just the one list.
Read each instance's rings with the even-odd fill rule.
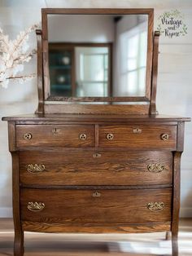
[[114,40],[114,22],[111,15],[48,15],[48,31],[49,42]]

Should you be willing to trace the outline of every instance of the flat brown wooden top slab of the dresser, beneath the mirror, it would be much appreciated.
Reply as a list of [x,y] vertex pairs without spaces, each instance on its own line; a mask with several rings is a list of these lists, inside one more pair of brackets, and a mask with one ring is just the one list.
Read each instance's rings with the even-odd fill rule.
[[28,122],[33,124],[47,124],[47,123],[59,123],[59,122],[68,122],[68,123],[126,123],[126,124],[150,124],[154,125],[177,125],[179,122],[190,121],[190,117],[174,117],[166,115],[127,115],[124,113],[120,114],[109,114],[109,115],[100,115],[100,114],[84,114],[79,115],[78,113],[74,114],[28,114],[28,115],[19,115],[15,117],[2,117],[2,121],[15,121],[16,124],[23,122],[28,124]]

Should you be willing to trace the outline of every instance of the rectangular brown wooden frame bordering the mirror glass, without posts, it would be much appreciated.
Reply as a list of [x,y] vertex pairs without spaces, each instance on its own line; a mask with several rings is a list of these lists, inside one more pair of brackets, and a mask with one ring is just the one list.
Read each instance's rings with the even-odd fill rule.
[[[49,69],[49,42],[48,42],[48,15],[148,15],[147,53],[146,53],[146,93],[145,96],[126,97],[65,97],[50,95],[50,69]],[[152,78],[152,57],[153,57],[153,28],[154,9],[89,9],[89,8],[43,8],[41,9],[42,19],[42,66],[44,81],[44,100],[49,103],[72,103],[75,102],[150,102],[151,101],[151,78]]]

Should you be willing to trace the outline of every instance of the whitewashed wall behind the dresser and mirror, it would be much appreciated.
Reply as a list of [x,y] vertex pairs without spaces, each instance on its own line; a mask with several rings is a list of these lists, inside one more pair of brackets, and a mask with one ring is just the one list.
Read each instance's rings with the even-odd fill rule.
[[[48,6],[46,6],[46,2]],[[179,9],[185,15],[188,35],[160,39],[157,107],[159,113],[192,116],[192,2],[190,0],[2,0],[0,26],[11,37],[41,19],[41,7],[155,7],[155,20],[164,10]],[[50,2],[52,4],[50,5]],[[156,24],[156,22],[155,22]],[[156,26],[156,25],[155,25]],[[34,38],[31,43],[35,45]],[[35,61],[28,71],[36,68]],[[0,115],[33,113],[37,107],[36,81],[0,88]],[[185,152],[181,161],[181,215],[192,217],[192,123],[185,126]],[[7,123],[0,121],[0,217],[11,216],[11,156],[7,146]]]

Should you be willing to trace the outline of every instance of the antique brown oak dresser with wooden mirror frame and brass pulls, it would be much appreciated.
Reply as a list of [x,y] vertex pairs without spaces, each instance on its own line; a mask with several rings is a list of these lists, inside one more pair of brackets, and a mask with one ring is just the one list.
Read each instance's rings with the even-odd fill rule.
[[[47,17],[57,14],[68,18],[94,15],[94,19],[97,15],[114,15],[116,30],[123,15],[146,15],[144,95],[110,92],[77,96],[67,95],[63,89],[63,95],[60,91],[54,94],[56,89],[50,89]],[[72,40],[68,38],[67,42],[70,46]],[[96,44],[98,48],[103,46]],[[84,42],[89,55],[90,45]],[[25,231],[171,232],[172,254],[178,254],[180,161],[184,122],[190,119],[156,112],[158,45],[159,33],[153,33],[153,9],[42,9],[42,29],[37,30],[37,112],[3,118],[8,121],[13,161],[15,256],[24,255]],[[68,67],[63,70],[70,68],[68,58],[75,54],[70,47],[67,51],[67,46],[65,43],[63,53],[55,54],[65,54],[62,61]],[[107,44],[104,46],[106,51]],[[94,51],[101,50],[98,48]],[[114,62],[116,58],[108,55],[108,60]],[[52,69],[58,65],[52,63]],[[86,70],[90,66],[89,59]],[[114,80],[111,73],[118,69],[114,63],[112,66],[108,67],[110,84]],[[74,75],[75,70],[71,71]],[[64,82],[62,79],[59,81]]]

